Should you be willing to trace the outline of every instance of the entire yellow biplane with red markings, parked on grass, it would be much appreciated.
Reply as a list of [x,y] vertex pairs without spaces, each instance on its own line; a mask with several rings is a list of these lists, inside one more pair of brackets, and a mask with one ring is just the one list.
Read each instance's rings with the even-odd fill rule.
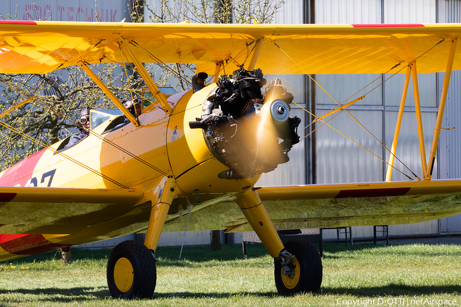
[[[107,279],[114,297],[151,297],[160,233],[184,231],[188,209],[188,230],[256,231],[275,259],[279,294],[317,292],[319,253],[306,240],[282,244],[276,229],[405,224],[461,213],[461,181],[431,180],[450,74],[461,69],[460,34],[454,24],[0,21],[0,73],[79,65],[123,114],[92,111],[86,139],[70,148],[62,140],[0,173],[0,259],[146,232],[144,244],[115,247]],[[104,62],[134,63],[155,104],[133,116],[90,67]],[[193,89],[162,94],[144,62],[195,64]],[[289,117],[292,95],[277,81],[262,95],[263,73],[401,72],[407,88],[416,67],[445,72],[428,159],[415,87],[421,179],[390,182],[389,167],[386,182],[255,187],[299,141],[299,119]],[[208,76],[213,81],[205,84]],[[125,118],[130,122],[114,129]]]

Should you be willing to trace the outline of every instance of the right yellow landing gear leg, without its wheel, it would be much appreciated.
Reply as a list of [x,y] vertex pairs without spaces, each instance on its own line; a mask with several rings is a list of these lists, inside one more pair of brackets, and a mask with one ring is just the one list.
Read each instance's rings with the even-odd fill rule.
[[272,221],[270,221],[269,215],[267,215],[258,193],[253,189],[248,189],[246,192],[239,194],[235,202],[261,239],[267,252],[274,258],[278,257],[284,246]]

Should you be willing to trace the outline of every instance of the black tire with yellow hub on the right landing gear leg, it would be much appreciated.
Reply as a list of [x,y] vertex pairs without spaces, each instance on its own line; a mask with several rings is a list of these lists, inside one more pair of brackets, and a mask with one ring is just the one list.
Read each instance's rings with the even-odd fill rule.
[[[322,258],[316,247],[308,240],[293,239],[285,244],[288,252],[295,255],[295,277],[283,275],[280,261],[274,259],[275,282],[279,295],[291,296],[300,293],[317,293],[322,284]],[[287,286],[288,284],[288,286]]]

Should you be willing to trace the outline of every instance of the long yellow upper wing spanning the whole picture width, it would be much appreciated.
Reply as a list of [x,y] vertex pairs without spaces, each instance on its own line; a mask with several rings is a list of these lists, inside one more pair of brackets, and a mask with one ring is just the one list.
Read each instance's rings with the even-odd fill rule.
[[[458,24],[208,25],[0,21],[0,73],[46,73],[79,61],[127,62],[123,37],[142,62],[197,64],[214,74],[248,64],[265,74],[385,73],[417,59],[418,72],[445,71]],[[256,43],[260,44],[256,47]],[[456,54],[460,54],[458,49]],[[461,69],[455,56],[453,70]],[[394,71],[392,71],[394,72]],[[404,71],[405,72],[405,71]]]

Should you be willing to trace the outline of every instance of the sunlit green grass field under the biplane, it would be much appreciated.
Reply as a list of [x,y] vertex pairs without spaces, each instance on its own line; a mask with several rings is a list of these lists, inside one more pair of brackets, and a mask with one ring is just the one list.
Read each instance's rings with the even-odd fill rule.
[[321,292],[288,298],[277,295],[274,261],[265,249],[249,245],[247,251],[243,260],[240,245],[219,251],[186,247],[178,260],[179,248],[159,248],[154,297],[128,301],[110,297],[110,250],[73,249],[71,265],[61,264],[55,252],[4,261],[0,307],[345,306],[338,302],[367,298],[375,299],[369,306],[416,306],[417,299],[456,299],[452,305],[461,306],[461,246],[324,244]]

